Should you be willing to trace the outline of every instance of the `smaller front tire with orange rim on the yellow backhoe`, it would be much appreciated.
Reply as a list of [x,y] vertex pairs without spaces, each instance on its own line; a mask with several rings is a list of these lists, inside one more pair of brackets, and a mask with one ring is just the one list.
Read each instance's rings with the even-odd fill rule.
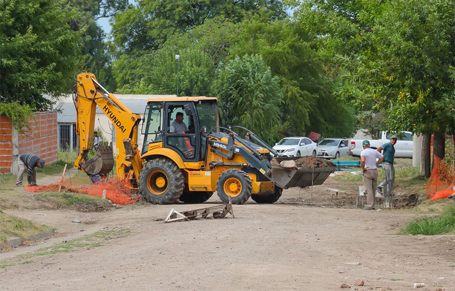
[[224,203],[229,203],[231,196],[232,204],[243,204],[250,198],[251,191],[253,191],[251,178],[239,169],[229,169],[217,180],[217,194]]

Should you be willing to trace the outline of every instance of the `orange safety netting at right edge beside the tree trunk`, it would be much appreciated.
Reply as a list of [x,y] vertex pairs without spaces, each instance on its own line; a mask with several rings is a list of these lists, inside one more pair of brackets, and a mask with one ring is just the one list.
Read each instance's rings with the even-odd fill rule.
[[455,194],[455,167],[450,163],[434,157],[434,166],[430,179],[425,185],[428,199],[445,199]]

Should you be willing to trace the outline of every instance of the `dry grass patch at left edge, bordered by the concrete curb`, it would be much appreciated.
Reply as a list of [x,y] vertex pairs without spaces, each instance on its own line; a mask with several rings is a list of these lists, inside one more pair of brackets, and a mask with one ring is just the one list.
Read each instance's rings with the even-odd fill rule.
[[30,220],[22,219],[0,211],[0,242],[5,243],[7,239],[18,236],[27,240],[30,235],[51,229],[46,225],[38,225]]

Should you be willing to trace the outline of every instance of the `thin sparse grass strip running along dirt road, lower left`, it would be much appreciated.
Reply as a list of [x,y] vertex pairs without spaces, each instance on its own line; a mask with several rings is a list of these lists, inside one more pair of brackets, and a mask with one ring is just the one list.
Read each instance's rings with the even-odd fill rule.
[[67,252],[74,252],[81,250],[82,248],[95,248],[106,245],[108,240],[115,239],[125,235],[126,233],[130,232],[128,229],[117,229],[117,230],[107,230],[102,232],[96,232],[91,235],[83,236],[79,239],[69,240],[65,243],[45,247],[39,250],[36,250],[31,253],[27,253],[24,255],[18,255],[13,259],[7,259],[0,261],[0,269],[19,265],[19,264],[30,264],[35,261],[30,260],[31,258],[37,256],[44,256],[44,255],[53,255],[57,253],[67,253]]

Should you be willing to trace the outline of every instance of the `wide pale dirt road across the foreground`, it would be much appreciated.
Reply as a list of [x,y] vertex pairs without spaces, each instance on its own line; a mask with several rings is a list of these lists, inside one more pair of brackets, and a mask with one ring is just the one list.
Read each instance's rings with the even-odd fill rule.
[[[295,193],[285,190],[280,201],[290,196]],[[216,194],[209,201],[219,202]],[[415,214],[248,201],[234,205],[235,219],[156,221],[171,208],[199,206],[8,210],[55,227],[59,237],[2,253],[0,260],[106,227],[129,232],[105,238],[103,246],[35,256],[0,269],[0,289],[339,290],[346,283],[352,290],[415,290],[413,284],[423,282],[421,290],[455,290],[454,235],[393,235]],[[364,286],[355,286],[357,279]]]

